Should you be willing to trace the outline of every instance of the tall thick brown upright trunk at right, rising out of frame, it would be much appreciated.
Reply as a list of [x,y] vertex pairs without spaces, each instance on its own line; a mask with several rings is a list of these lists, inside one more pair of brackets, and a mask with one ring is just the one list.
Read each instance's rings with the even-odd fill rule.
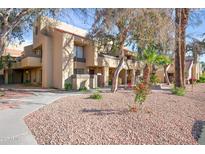
[[185,88],[185,32],[189,9],[175,9],[175,86]]

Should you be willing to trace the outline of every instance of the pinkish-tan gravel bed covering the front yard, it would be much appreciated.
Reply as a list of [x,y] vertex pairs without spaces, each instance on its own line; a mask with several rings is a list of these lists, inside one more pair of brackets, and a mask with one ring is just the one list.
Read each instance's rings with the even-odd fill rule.
[[132,92],[68,96],[25,117],[38,144],[197,144],[205,121],[205,84],[186,96],[152,92],[144,109],[129,112]]

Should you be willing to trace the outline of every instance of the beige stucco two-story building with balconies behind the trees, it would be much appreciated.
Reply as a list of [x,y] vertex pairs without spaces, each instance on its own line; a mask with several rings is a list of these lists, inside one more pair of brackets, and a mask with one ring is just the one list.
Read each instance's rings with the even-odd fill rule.
[[[108,86],[119,63],[118,55],[99,51],[87,31],[77,27],[38,18],[33,27],[33,44],[12,66],[12,83],[32,83],[44,88],[63,89],[66,82],[73,89]],[[55,23],[55,24],[47,24]],[[119,75],[119,84],[134,84],[139,75],[138,62],[125,49],[126,66]],[[8,78],[5,71],[5,78]],[[6,79],[5,81],[8,81]]]

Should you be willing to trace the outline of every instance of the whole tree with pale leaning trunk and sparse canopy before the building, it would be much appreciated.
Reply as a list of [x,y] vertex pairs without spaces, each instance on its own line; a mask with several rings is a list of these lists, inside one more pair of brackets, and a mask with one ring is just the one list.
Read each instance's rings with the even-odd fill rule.
[[[95,22],[92,26],[91,36],[98,42],[99,46],[103,46],[108,52],[119,53],[119,64],[115,70],[112,92],[116,92],[118,87],[118,77],[120,71],[125,65],[125,51],[129,33],[134,28],[133,22],[140,9],[97,9]],[[107,48],[107,46],[111,46]]]

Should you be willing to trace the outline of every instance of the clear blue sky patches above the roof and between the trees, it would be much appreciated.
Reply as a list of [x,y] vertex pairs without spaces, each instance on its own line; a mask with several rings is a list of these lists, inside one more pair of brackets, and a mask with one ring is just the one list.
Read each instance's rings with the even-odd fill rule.
[[[89,31],[89,29],[92,26],[92,23],[94,22],[93,10],[91,10],[88,13],[87,17],[84,17],[80,14],[76,15],[76,13],[74,13],[70,9],[67,9],[65,11],[67,11],[66,13],[69,14],[69,16],[62,15],[58,20]],[[198,15],[197,17],[194,15],[190,15],[190,20],[189,20],[190,22],[186,29],[186,33],[188,36],[200,39],[202,37],[202,34],[205,33],[205,9],[197,10],[197,12],[199,12],[197,14]],[[200,22],[197,19],[200,19]],[[33,37],[32,34],[33,34],[32,30],[25,33],[24,38],[26,42],[24,44],[32,44],[32,37]],[[187,39],[187,42],[188,41],[189,39]],[[205,55],[200,57],[200,61],[205,62]]]

